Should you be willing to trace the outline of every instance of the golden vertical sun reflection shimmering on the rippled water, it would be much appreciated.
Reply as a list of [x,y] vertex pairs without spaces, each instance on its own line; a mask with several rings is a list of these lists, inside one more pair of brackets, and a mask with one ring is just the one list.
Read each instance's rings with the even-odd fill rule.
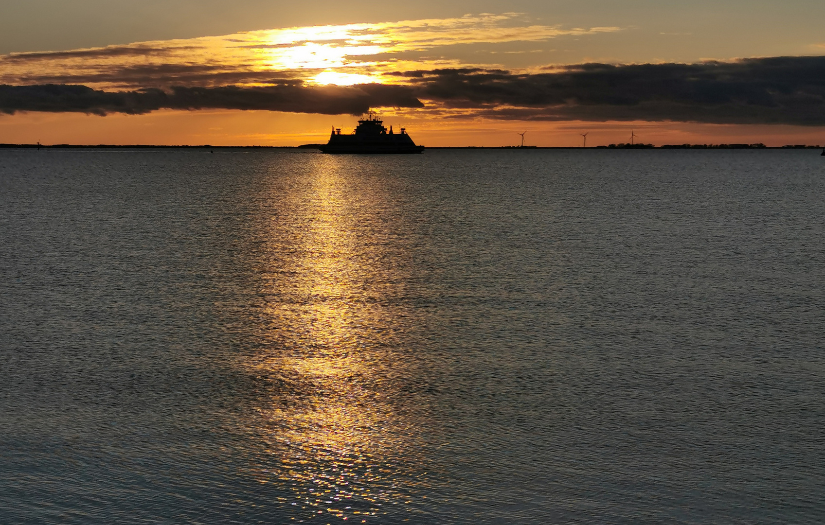
[[398,311],[389,311],[382,289],[398,279],[364,237],[370,205],[363,191],[347,194],[342,162],[315,162],[273,234],[279,241],[268,271],[277,289],[264,324],[275,350],[255,367],[285,377],[286,388],[262,409],[277,464],[262,481],[290,489],[282,504],[296,522],[380,523],[388,507],[411,503],[404,480],[426,472],[403,460],[409,429],[389,400]]

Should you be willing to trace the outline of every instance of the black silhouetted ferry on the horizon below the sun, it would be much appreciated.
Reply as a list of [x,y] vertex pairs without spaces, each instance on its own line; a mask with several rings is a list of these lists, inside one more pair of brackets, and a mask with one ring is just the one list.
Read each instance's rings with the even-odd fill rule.
[[342,135],[341,128],[332,128],[329,142],[318,149],[324,153],[420,153],[423,146],[417,146],[407,134],[406,129],[394,133],[384,128],[384,121],[378,120],[375,113],[367,114],[366,119],[358,121],[355,132]]

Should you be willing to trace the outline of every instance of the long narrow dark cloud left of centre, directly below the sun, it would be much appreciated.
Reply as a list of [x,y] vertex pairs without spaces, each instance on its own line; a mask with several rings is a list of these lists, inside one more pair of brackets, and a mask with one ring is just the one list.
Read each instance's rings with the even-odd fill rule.
[[271,110],[324,115],[360,115],[370,107],[422,107],[402,86],[172,87],[170,91],[95,91],[59,84],[0,86],[0,112],[81,112],[94,115],[139,115],[160,109]]

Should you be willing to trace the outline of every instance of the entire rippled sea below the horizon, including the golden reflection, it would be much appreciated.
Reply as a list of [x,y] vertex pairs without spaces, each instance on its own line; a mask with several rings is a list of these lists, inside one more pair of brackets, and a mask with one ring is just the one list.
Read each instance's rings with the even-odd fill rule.
[[0,151],[0,522],[822,523],[815,153]]

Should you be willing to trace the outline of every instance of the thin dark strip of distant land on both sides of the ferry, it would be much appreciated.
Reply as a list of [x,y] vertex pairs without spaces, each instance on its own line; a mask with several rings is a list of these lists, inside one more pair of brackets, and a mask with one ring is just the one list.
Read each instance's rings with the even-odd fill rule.
[[[0,148],[18,149],[317,149],[322,144],[302,144],[300,146],[214,146],[211,144],[201,144],[196,146],[157,146],[151,144],[5,144],[0,143]],[[427,146],[427,149],[821,149],[823,146],[812,146],[808,144],[788,144],[785,146],[765,146],[764,144],[664,144],[653,146],[653,144],[610,144],[610,146]]]

